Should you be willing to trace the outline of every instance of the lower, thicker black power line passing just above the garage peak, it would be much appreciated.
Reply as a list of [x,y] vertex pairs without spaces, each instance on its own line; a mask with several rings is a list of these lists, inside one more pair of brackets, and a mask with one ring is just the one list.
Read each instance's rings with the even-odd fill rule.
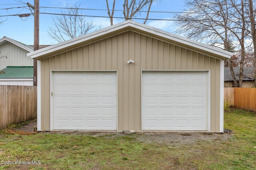
[[[109,16],[89,16],[89,15],[73,15],[73,14],[56,14],[40,12],[40,14],[59,15],[59,16],[84,16],[84,17],[98,17],[98,18],[109,18]],[[118,19],[127,19],[124,17],[112,17]],[[156,20],[156,21],[208,21],[208,22],[229,22],[229,23],[251,23],[250,21],[212,21],[212,20],[176,20],[176,19],[156,19],[156,18],[131,18],[132,20]]]

